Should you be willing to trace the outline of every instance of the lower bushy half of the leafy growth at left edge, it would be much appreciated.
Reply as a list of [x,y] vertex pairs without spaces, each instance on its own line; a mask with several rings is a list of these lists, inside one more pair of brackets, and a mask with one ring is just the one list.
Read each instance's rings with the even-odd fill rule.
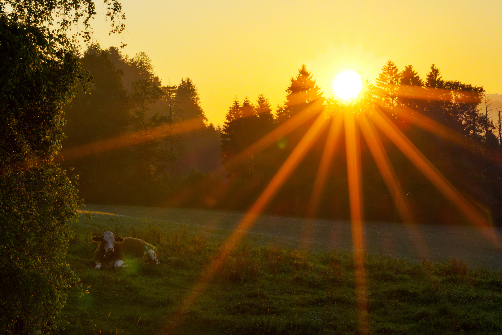
[[67,220],[80,204],[75,182],[45,162],[9,167],[0,176],[0,190],[0,329],[57,329],[67,297],[63,290],[78,282],[65,261]]

